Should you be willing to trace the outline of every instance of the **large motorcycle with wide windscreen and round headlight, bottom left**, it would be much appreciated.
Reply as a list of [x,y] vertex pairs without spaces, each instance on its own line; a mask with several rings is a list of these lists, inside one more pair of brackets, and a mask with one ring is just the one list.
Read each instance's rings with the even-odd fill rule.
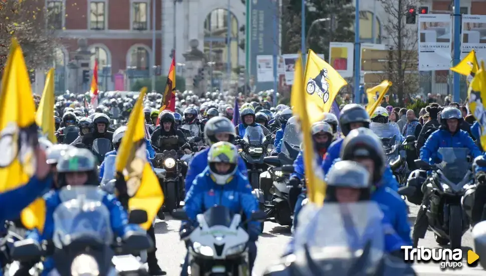
[[[110,212],[102,204],[98,187],[67,186],[59,193],[61,204],[54,211],[54,235],[47,249],[33,239],[14,243],[12,258],[37,261],[52,256],[59,275],[148,275],[143,264],[132,254],[149,249],[153,242],[145,231],[127,233],[118,242],[110,225]],[[130,214],[130,223],[142,223],[147,213],[134,218],[141,210]],[[132,213],[134,216],[132,216]]]

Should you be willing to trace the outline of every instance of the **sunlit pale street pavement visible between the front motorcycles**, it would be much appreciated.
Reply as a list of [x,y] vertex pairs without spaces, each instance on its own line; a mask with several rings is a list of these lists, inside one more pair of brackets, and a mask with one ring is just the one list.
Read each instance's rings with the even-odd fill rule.
[[[413,223],[417,213],[418,207],[415,205],[410,206],[410,222]],[[186,250],[183,242],[179,239],[179,226],[180,222],[174,220],[169,216],[166,220],[157,220],[155,226],[155,233],[157,236],[157,255],[167,275],[178,275],[180,273],[180,262],[182,261]],[[262,275],[265,268],[269,264],[277,261],[282,254],[285,245],[290,239],[290,229],[288,227],[282,227],[277,223],[266,222],[264,233],[260,237],[258,245],[257,262],[254,269],[254,275]],[[439,245],[434,240],[434,236],[431,232],[427,232],[425,239],[420,240],[420,246],[428,248],[438,248]],[[467,250],[472,247],[472,238],[470,231],[467,231],[462,237],[463,256],[467,256]],[[486,271],[477,267],[468,267],[464,262],[461,269],[456,270],[444,270],[440,269],[439,264],[415,264],[415,270],[419,275],[486,275]]]

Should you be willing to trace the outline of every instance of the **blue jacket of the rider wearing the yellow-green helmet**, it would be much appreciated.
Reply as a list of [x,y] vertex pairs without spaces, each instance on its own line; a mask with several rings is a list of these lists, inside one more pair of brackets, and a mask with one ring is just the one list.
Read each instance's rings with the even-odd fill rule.
[[[196,221],[198,214],[215,205],[225,206],[235,214],[242,211],[247,218],[259,209],[247,177],[236,172],[229,183],[218,185],[211,179],[208,167],[194,179],[184,202],[184,211],[192,222]],[[262,232],[259,222],[250,222],[248,228],[254,239]]]

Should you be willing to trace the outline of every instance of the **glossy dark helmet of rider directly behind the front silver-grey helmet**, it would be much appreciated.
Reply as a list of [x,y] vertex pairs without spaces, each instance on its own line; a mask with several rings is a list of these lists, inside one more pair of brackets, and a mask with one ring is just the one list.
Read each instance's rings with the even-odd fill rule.
[[359,127],[349,131],[341,146],[341,159],[368,158],[374,161],[373,183],[381,180],[387,160],[381,140],[369,128]]

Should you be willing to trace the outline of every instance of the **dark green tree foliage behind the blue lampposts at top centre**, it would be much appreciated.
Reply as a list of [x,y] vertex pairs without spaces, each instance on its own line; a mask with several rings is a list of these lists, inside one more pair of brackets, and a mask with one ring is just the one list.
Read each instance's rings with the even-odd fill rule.
[[[301,50],[301,0],[283,0],[282,7],[282,52],[297,53]],[[352,42],[354,40],[354,6],[352,0],[307,0],[306,36],[308,48],[329,57],[330,42]],[[318,19],[329,21],[311,24]]]

